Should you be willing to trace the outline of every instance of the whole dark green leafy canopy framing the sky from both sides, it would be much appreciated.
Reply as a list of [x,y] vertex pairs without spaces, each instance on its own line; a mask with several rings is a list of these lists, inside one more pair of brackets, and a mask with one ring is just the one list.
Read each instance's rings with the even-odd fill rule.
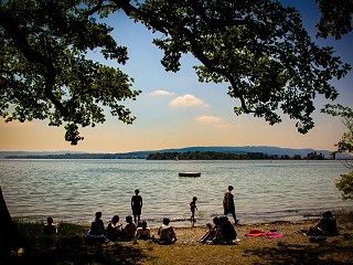
[[[319,2],[319,1],[318,1]],[[320,2],[323,2],[320,1]],[[270,0],[10,0],[0,3],[0,114],[8,120],[65,123],[76,145],[78,126],[105,121],[103,106],[124,123],[135,119],[121,102],[136,99],[132,80],[86,59],[98,50],[124,64],[127,49],[100,18],[124,11],[162,38],[167,71],[178,72],[183,53],[200,60],[201,82],[226,83],[239,99],[234,112],[280,123],[279,110],[300,132],[314,126],[313,99],[335,99],[330,84],[350,70],[309,38],[299,13]]]

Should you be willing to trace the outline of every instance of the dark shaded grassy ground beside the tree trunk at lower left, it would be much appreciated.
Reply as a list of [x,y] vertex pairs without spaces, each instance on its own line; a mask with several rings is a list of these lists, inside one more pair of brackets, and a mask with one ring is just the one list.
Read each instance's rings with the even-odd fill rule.
[[47,245],[43,222],[15,223],[23,239],[23,254],[13,252],[1,264],[139,264],[143,258],[142,251],[132,244],[86,244],[87,227],[82,225],[60,223],[56,241]]

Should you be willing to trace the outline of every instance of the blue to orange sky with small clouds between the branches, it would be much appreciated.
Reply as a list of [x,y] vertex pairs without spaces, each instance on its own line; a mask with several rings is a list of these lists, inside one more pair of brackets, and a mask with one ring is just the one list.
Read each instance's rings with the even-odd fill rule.
[[[314,24],[319,11],[314,0],[282,0],[285,6],[295,6],[302,14],[304,26],[314,38]],[[191,55],[181,60],[181,71],[165,72],[160,64],[162,51],[152,44],[153,35],[147,28],[133,23],[124,13],[107,20],[115,28],[114,36],[119,45],[126,45],[129,60],[121,66],[105,62],[135,78],[133,89],[142,94],[135,102],[126,102],[137,117],[132,125],[126,125],[106,112],[107,121],[96,127],[82,128],[85,138],[77,146],[64,139],[64,128],[50,127],[47,120],[26,123],[0,120],[0,151],[85,151],[128,152],[138,150],[160,150],[191,146],[276,146],[286,148],[313,148],[334,150],[334,145],[346,130],[340,118],[320,113],[320,108],[331,103],[323,97],[315,99],[313,115],[315,127],[306,135],[297,131],[296,120],[282,116],[282,123],[268,125],[253,115],[236,116],[233,108],[239,105],[231,98],[227,85],[199,83],[192,68],[200,62]],[[353,65],[353,34],[335,41],[317,40],[320,45],[334,46],[335,55]],[[90,56],[103,62],[97,53]],[[335,103],[353,105],[353,73],[344,80],[335,81],[340,96]]]

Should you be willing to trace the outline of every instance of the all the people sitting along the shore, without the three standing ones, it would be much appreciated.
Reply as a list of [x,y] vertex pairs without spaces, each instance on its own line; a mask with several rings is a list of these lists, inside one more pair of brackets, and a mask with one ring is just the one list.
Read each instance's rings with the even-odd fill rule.
[[[119,215],[114,215],[107,229],[101,220],[101,212],[96,213],[95,220],[92,222],[90,230],[86,234],[86,242],[107,242],[107,241],[131,241],[152,240],[160,244],[172,244],[178,241],[173,226],[170,225],[168,218],[163,219],[163,224],[158,229],[158,237],[151,236],[150,227],[147,222],[142,221],[141,226],[137,227],[132,222],[132,216],[126,218],[126,224],[118,224]],[[237,240],[237,233],[234,225],[227,216],[213,218],[213,224],[207,223],[207,232],[197,242],[202,244],[233,244]],[[315,226],[302,231],[304,235],[311,239],[322,240],[325,236],[340,235],[336,220],[332,212],[328,211],[322,214],[322,219]],[[56,241],[57,227],[53,224],[53,219],[47,218],[47,224],[44,225],[44,243],[52,244]],[[320,237],[320,239],[319,239]]]

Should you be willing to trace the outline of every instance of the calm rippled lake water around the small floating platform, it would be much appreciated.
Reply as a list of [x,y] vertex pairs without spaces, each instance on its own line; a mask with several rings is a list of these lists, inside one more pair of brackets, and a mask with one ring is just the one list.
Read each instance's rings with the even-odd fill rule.
[[[197,171],[200,178],[179,177]],[[152,227],[164,216],[189,226],[196,195],[196,224],[223,214],[223,192],[234,187],[243,223],[297,221],[324,210],[352,206],[334,187],[342,161],[150,161],[0,160],[0,184],[13,218],[88,224],[96,211],[108,222],[131,214],[135,189],[143,198],[142,220]]]

